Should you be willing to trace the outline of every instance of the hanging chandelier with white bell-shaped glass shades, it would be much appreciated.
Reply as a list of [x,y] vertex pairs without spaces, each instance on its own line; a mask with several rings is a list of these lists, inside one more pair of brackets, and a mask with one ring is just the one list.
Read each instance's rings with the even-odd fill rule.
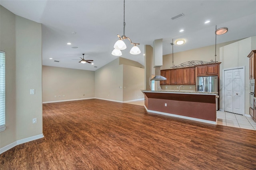
[[[124,2],[125,2],[125,0],[124,0]],[[124,3],[124,14],[125,14],[125,3]],[[125,40],[125,39],[128,39],[130,41],[130,43],[134,45],[132,47],[132,49],[130,50],[130,53],[134,54],[134,55],[140,54],[140,48],[137,46],[140,43],[133,43],[130,38],[125,36],[125,20],[124,20],[123,26],[124,26],[123,36],[117,35],[119,40],[117,40],[117,42],[114,44],[114,50],[112,51],[112,55],[115,55],[115,56],[122,55],[121,50],[126,49],[126,44],[123,42],[123,40]]]

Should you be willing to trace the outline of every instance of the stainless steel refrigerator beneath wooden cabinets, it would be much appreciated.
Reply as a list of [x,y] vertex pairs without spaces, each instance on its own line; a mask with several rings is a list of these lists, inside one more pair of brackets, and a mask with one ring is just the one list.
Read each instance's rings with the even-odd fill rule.
[[218,92],[218,76],[197,77],[197,91]]

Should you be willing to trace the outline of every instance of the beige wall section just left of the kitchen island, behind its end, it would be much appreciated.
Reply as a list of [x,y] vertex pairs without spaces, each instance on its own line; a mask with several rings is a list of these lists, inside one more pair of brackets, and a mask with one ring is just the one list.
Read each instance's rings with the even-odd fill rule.
[[144,69],[123,65],[123,101],[143,99]]

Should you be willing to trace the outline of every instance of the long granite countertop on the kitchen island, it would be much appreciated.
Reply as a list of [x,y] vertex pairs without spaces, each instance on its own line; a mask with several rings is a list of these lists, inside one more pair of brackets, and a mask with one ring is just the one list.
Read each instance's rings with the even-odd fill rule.
[[202,92],[202,91],[191,91],[191,90],[141,90],[142,92],[149,93],[180,93],[180,94],[198,94],[198,95],[218,95],[218,92]]

